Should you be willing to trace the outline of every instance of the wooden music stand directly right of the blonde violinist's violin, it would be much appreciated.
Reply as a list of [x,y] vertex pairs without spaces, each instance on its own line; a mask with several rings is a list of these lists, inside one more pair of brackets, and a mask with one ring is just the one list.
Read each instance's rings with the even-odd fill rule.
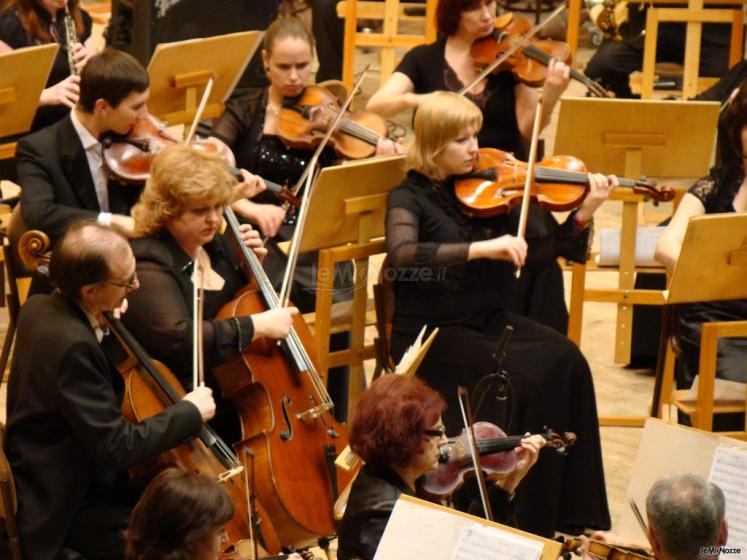
[[[560,100],[555,153],[573,154],[593,171],[628,178],[699,177],[708,171],[719,104],[592,98]],[[581,344],[583,301],[617,304],[615,362],[630,361],[633,305],[661,305],[658,290],[635,290],[635,238],[641,195],[618,189],[623,203],[619,281],[615,290],[585,289],[584,265],[574,265],[568,336]],[[663,269],[661,269],[663,272]]]

